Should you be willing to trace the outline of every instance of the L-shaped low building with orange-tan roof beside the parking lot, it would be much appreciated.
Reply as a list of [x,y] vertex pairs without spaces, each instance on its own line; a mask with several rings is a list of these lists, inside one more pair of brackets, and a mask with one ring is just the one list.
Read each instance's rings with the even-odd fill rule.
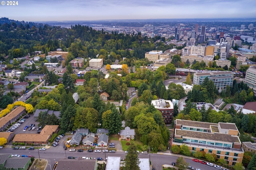
[[15,143],[47,144],[54,133],[58,133],[59,125],[45,125],[41,133],[20,133],[12,140]]

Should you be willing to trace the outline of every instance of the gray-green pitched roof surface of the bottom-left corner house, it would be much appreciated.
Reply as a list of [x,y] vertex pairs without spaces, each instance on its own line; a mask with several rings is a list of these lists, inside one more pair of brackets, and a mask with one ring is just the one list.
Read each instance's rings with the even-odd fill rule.
[[28,163],[28,161],[30,161],[30,158],[16,158],[16,157],[12,157],[12,158],[8,158],[6,160],[6,163],[4,164],[4,168],[13,168],[13,169],[18,169],[18,168],[24,168],[25,165]]

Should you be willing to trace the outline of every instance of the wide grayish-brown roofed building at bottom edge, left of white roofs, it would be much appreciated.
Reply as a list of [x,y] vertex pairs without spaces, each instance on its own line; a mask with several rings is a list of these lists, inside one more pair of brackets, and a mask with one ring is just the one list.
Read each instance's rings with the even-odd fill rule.
[[58,160],[57,170],[97,170],[96,159],[61,159]]

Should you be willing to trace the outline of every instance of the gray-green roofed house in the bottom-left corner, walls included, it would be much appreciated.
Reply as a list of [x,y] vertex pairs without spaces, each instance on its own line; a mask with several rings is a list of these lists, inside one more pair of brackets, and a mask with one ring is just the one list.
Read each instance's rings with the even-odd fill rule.
[[29,164],[31,163],[31,158],[24,157],[12,157],[8,158],[4,164],[4,169],[6,170],[27,170]]

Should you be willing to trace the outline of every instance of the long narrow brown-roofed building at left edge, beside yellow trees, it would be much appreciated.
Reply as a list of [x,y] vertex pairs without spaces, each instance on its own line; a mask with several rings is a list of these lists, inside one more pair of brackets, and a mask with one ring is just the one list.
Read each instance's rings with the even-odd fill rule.
[[0,118],[0,131],[4,131],[8,125],[16,121],[23,113],[26,113],[26,108],[18,106],[10,113]]

